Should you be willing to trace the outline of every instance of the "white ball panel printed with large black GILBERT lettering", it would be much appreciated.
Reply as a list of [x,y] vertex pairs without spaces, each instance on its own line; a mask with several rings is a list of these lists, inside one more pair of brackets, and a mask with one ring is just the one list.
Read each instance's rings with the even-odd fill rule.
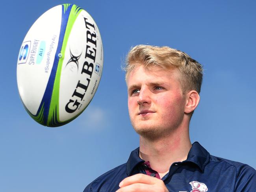
[[65,50],[59,90],[60,121],[76,118],[89,105],[98,87],[102,66],[100,33],[93,18],[82,10]]

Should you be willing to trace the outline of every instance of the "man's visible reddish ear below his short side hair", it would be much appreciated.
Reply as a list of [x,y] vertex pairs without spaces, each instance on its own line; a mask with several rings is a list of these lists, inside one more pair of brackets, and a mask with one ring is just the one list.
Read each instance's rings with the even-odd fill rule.
[[191,113],[197,108],[200,96],[196,90],[191,90],[186,94],[185,113]]

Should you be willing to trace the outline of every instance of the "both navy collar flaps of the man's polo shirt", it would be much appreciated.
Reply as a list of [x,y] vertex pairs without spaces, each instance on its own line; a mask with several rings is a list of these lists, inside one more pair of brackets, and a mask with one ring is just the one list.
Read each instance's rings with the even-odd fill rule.
[[[203,172],[204,167],[209,160],[210,154],[208,153],[208,151],[206,151],[206,149],[204,149],[198,142],[194,142],[187,155],[187,160],[183,162],[192,162],[194,164],[197,164],[197,166]],[[126,163],[127,174],[130,175],[132,173],[132,170],[142,162],[145,161],[139,157],[139,148],[137,148],[131,152],[130,157]]]

